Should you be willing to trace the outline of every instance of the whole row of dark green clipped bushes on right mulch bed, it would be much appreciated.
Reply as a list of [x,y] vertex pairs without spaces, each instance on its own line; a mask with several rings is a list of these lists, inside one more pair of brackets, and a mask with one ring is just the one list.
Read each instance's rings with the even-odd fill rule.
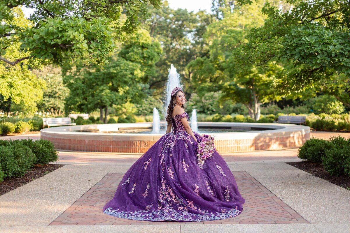
[[330,175],[350,176],[350,138],[332,137],[330,140],[311,138],[298,150],[298,157],[322,163]]

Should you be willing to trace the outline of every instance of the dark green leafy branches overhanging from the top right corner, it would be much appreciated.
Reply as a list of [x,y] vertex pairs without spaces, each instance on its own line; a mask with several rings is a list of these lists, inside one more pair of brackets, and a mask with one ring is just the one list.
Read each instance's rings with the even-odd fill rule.
[[[240,0],[241,3],[251,1]],[[350,2],[348,0],[288,1],[283,12],[269,3],[262,8],[267,16],[263,26],[248,35],[249,43],[236,57],[238,66],[257,66],[271,60],[291,62],[276,86],[284,93],[317,86],[339,73],[350,74]]]

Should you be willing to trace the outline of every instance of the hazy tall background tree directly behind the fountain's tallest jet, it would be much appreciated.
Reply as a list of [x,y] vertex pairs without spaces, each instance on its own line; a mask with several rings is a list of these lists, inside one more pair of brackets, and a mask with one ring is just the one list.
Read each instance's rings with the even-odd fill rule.
[[187,64],[208,52],[208,46],[203,40],[212,17],[204,11],[188,12],[186,9],[171,9],[164,1],[160,9],[152,8],[151,17],[146,21],[145,28],[150,35],[161,43],[163,54],[156,64],[156,75],[149,84],[158,90],[155,95],[163,92],[171,64],[177,68],[182,82],[190,91],[192,72]]

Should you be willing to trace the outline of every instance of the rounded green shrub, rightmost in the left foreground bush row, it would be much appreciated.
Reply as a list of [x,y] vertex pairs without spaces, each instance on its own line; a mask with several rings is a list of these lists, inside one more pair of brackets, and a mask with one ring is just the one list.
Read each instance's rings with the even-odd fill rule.
[[57,161],[57,150],[51,141],[39,139],[34,141],[31,145],[31,150],[37,158],[36,163],[43,164]]

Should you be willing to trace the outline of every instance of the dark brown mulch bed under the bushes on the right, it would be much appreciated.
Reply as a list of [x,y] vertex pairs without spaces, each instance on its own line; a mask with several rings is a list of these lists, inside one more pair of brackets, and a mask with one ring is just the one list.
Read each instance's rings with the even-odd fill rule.
[[323,180],[329,181],[342,188],[350,188],[350,177],[349,176],[331,176],[326,170],[324,170],[322,164],[311,163],[308,161],[302,162],[288,162],[289,165],[299,168],[305,172],[313,174],[314,176],[320,177]]

